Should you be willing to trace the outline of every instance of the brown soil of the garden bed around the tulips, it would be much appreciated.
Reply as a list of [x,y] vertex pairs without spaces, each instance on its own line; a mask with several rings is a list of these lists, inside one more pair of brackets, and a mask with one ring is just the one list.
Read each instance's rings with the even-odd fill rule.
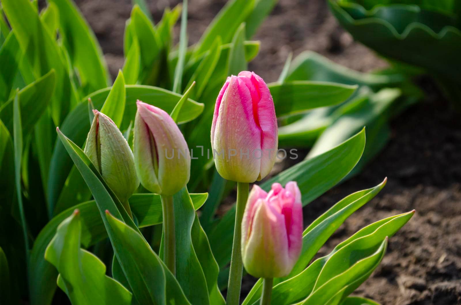
[[[123,65],[123,33],[130,0],[76,0],[89,21],[115,77]],[[154,20],[179,1],[148,0]],[[198,41],[224,0],[189,1],[189,41]],[[175,29],[179,31],[178,28]],[[318,52],[349,68],[369,71],[386,64],[353,41],[328,11],[325,0],[279,0],[254,39],[260,54],[250,64],[267,82],[276,81],[290,52]],[[388,177],[378,196],[353,214],[320,250],[325,255],[363,226],[415,209],[390,238],[378,270],[354,294],[383,304],[461,304],[461,120],[433,93],[391,122],[385,149],[358,176],[304,209],[305,226],[337,200]],[[251,287],[246,277],[243,287]],[[247,291],[248,292],[248,291]],[[245,294],[245,291],[242,291]]]

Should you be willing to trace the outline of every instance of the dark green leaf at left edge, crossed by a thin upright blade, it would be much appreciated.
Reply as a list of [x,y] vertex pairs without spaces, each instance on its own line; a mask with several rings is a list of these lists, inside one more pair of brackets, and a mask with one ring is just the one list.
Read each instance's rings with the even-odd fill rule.
[[[20,101],[21,123],[24,135],[29,134],[35,123],[40,119],[43,112],[46,111],[55,87],[54,70],[49,71],[44,76],[32,82],[30,85],[18,91]],[[13,108],[14,98],[8,100],[0,107],[0,119],[6,127],[13,130]]]

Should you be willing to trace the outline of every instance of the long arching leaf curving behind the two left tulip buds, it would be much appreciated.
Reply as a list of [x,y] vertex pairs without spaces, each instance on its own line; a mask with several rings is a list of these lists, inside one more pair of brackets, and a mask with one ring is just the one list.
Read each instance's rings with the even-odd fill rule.
[[[86,97],[84,101],[91,98],[96,109],[100,109],[107,99],[111,88],[102,89]],[[126,104],[124,111],[124,119],[122,120],[121,129],[124,130],[130,124],[130,121],[136,114],[136,100],[142,99],[143,102],[157,106],[166,112],[170,113],[177,102],[181,99],[181,95],[172,93],[171,91],[142,85],[125,85],[126,89]],[[197,103],[188,99],[184,102],[183,107],[178,115],[178,122],[185,123],[199,116],[203,110],[203,104]],[[83,145],[90,123],[88,122],[88,106],[86,103],[80,103],[75,107],[65,122],[61,126],[61,130],[68,137],[77,143]],[[47,201],[50,205],[50,210],[54,210],[59,194],[67,180],[67,177],[72,168],[71,158],[65,153],[64,146],[60,141],[56,141],[53,149],[53,155],[50,164],[50,173],[47,188]],[[71,182],[69,182],[72,185]],[[85,200],[85,198],[83,198]]]

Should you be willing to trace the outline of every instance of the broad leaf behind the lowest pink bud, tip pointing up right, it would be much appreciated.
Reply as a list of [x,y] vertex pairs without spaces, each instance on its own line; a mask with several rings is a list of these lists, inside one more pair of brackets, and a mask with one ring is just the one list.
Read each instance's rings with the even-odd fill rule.
[[[302,205],[307,205],[340,182],[354,168],[361,158],[364,147],[365,129],[362,129],[341,145],[284,170],[260,186],[269,190],[274,182],[284,185],[289,181],[296,181],[301,190]],[[220,268],[228,264],[231,259],[235,211],[234,205],[208,236]]]

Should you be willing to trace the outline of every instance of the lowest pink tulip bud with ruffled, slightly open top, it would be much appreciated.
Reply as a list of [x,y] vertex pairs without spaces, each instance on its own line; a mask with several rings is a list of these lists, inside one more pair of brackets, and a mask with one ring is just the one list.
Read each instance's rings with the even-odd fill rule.
[[296,182],[254,185],[242,220],[242,260],[255,277],[287,276],[302,247],[301,193]]

